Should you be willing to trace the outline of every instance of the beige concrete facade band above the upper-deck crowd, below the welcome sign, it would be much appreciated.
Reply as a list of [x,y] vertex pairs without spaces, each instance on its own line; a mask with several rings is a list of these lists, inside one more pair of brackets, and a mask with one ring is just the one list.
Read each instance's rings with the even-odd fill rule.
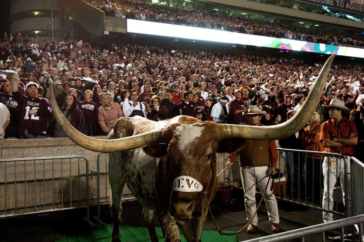
[[218,5],[225,5],[225,7],[226,5],[230,5],[228,7],[232,9],[245,9],[247,11],[262,13],[269,16],[284,17],[293,20],[305,20],[330,26],[341,26],[350,29],[364,28],[364,23],[361,22],[304,12],[296,9],[278,7],[264,3],[257,3],[249,0],[209,0],[209,2]]

